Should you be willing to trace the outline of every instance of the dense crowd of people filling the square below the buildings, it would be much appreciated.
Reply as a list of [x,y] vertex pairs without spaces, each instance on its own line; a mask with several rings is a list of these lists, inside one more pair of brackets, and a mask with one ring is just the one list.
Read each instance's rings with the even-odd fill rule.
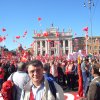
[[[64,90],[79,88],[78,61],[38,57],[12,63],[0,59],[0,90],[4,100],[64,100]],[[80,63],[83,100],[100,100],[100,59]],[[13,91],[10,93],[10,84]],[[8,90],[8,92],[7,92]],[[6,96],[5,96],[6,95]]]

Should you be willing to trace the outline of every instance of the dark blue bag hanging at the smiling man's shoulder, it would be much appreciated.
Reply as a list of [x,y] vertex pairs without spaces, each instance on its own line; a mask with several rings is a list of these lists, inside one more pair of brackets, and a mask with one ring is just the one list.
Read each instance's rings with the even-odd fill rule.
[[47,81],[48,81],[48,83],[49,83],[50,91],[51,91],[52,95],[53,95],[53,96],[55,97],[55,99],[56,99],[57,90],[56,90],[56,87],[55,87],[55,85],[54,85],[54,81],[53,81],[51,78],[49,78],[49,77],[46,77],[46,79],[47,79]]

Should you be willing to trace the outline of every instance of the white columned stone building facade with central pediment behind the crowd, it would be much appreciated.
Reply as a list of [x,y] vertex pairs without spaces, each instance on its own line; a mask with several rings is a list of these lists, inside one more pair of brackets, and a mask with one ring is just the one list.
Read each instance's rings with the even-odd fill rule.
[[34,55],[68,55],[72,53],[72,33],[59,32],[58,28],[51,26],[45,32],[34,35]]

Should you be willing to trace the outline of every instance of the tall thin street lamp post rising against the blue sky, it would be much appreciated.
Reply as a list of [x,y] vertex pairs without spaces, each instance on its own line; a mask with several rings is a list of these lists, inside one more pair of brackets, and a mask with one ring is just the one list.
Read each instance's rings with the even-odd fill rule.
[[[94,2],[93,0],[88,0],[87,1],[87,6],[89,8],[89,17],[90,17],[90,33],[91,33],[91,53],[93,53],[93,44],[92,44],[92,37],[93,37],[93,33],[92,33],[92,7],[94,6]],[[84,7],[86,7],[86,2],[84,2]]]

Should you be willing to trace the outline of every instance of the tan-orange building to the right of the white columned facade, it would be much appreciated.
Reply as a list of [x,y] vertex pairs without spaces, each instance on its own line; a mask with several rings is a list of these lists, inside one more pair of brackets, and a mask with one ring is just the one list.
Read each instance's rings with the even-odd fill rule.
[[87,40],[85,37],[75,37],[72,40],[73,52],[82,50],[82,52],[86,53],[87,49],[87,54],[100,54],[100,36],[88,37]]

